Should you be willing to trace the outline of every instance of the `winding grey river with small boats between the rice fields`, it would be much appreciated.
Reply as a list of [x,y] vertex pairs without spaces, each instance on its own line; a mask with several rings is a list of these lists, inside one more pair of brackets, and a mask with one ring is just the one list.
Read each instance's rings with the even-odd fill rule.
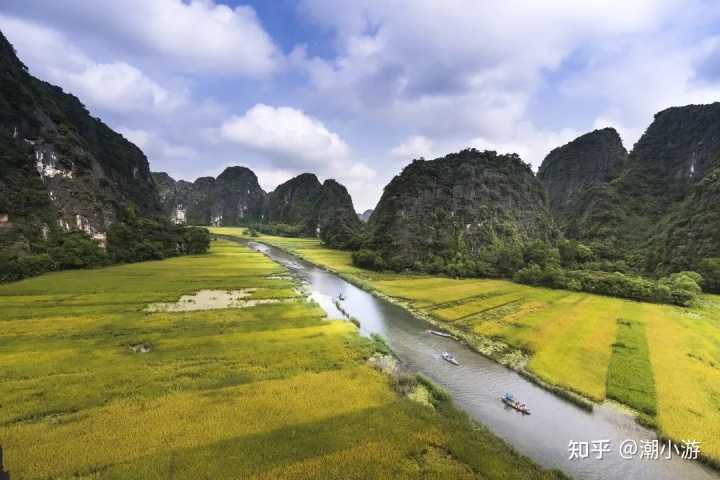
[[[581,479],[720,479],[720,473],[696,461],[680,458],[668,448],[659,459],[641,458],[643,441],[656,439],[655,433],[638,425],[631,415],[609,406],[584,411],[525,380],[517,373],[470,350],[452,338],[430,333],[433,325],[406,310],[376,298],[322,267],[302,261],[275,247],[249,242],[249,245],[285,265],[292,276],[305,284],[313,298],[331,318],[344,318],[333,300],[342,293],[342,307],[361,322],[363,335],[380,333],[404,368],[426,374],[453,395],[457,408],[486,425],[517,450],[545,467],[559,467]],[[460,365],[444,361],[440,354],[457,354]],[[505,392],[526,403],[532,415],[523,415],[500,401]],[[609,440],[595,444],[593,442]],[[699,439],[701,440],[701,439]],[[570,459],[570,442],[587,442],[585,458]],[[629,449],[621,455],[621,445]],[[637,452],[632,453],[632,445]],[[607,445],[610,452],[598,459],[597,447]],[[659,442],[660,449],[663,442]],[[577,444],[576,449],[584,449]],[[702,443],[701,443],[702,449]]]

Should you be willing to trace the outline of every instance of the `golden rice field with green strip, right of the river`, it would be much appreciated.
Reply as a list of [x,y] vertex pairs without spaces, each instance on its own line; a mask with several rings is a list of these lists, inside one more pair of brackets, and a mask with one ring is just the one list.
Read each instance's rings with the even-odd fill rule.
[[720,460],[720,297],[680,308],[503,280],[377,274],[353,267],[347,252],[308,242],[283,239],[283,247],[357,276],[450,331],[521,349],[526,370],[545,382],[618,400]]

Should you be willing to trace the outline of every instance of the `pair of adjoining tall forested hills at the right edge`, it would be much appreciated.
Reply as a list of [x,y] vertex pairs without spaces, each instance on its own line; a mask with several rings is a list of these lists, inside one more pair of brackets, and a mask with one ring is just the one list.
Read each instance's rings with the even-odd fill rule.
[[[588,245],[605,268],[651,276],[696,270],[713,288],[720,276],[720,103],[673,107],[655,119],[626,161],[612,141],[584,135],[545,159],[550,206],[563,233]],[[558,154],[567,166],[560,168]],[[610,180],[575,188],[587,171],[573,165],[620,165]],[[564,175],[565,182],[556,181]],[[553,198],[573,198],[566,204]],[[720,285],[718,285],[720,286]]]

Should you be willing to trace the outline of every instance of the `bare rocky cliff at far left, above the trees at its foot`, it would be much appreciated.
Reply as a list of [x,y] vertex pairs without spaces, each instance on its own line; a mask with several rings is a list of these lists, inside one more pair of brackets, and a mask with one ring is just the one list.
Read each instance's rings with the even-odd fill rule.
[[104,240],[124,204],[161,215],[140,149],[76,97],[32,77],[1,33],[0,157],[0,218],[6,229],[24,225],[17,238],[28,245],[55,227]]

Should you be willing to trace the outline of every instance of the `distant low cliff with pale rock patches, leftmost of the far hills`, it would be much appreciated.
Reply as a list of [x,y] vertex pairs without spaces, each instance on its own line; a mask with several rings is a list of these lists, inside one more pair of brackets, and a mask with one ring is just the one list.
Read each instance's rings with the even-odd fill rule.
[[231,226],[262,219],[266,193],[245,167],[228,167],[217,179],[190,183],[153,173],[167,218],[191,225]]

